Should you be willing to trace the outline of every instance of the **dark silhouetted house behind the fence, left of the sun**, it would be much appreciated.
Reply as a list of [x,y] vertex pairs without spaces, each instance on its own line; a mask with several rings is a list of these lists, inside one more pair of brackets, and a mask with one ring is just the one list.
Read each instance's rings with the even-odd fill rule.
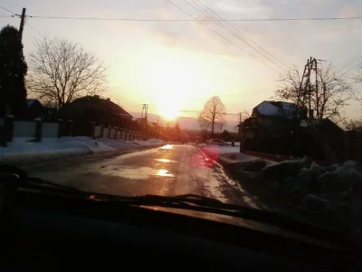
[[103,99],[99,95],[87,95],[66,104],[60,117],[77,123],[94,121],[97,124],[129,128],[132,115],[110,98]]

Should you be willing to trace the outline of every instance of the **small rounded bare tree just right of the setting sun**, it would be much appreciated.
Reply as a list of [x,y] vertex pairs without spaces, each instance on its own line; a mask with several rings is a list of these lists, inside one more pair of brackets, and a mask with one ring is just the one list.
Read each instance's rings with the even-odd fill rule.
[[224,123],[226,109],[220,97],[213,96],[204,104],[204,109],[198,116],[200,127],[211,130],[211,135],[214,135],[215,125],[221,127]]

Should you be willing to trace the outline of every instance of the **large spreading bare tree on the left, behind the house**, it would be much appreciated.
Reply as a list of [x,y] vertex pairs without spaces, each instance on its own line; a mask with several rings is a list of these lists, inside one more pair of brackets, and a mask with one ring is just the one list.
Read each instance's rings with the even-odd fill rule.
[[30,54],[28,91],[61,109],[83,95],[105,91],[106,68],[94,53],[67,40],[43,39]]

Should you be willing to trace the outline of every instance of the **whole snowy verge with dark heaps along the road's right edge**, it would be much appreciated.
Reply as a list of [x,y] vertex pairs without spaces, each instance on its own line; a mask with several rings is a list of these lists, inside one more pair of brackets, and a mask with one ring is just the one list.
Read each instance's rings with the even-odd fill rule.
[[239,147],[200,150],[265,207],[362,238],[360,163],[321,166],[308,157],[275,162],[240,153]]

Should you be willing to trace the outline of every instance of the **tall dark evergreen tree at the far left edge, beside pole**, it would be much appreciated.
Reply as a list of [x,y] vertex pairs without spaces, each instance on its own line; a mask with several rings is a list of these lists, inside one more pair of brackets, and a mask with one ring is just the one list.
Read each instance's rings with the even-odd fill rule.
[[0,116],[5,115],[6,108],[15,116],[24,114],[26,73],[19,32],[14,26],[6,25],[0,31]]

